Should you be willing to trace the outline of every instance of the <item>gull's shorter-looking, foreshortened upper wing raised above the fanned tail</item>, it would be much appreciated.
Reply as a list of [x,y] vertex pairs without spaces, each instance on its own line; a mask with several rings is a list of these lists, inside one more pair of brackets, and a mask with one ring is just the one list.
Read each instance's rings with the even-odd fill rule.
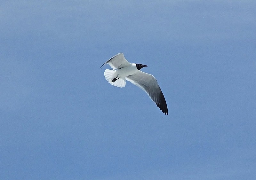
[[[118,53],[112,58],[108,59],[107,62],[105,62],[101,67],[108,64],[112,69],[121,69],[122,67],[130,66],[131,63],[129,63],[125,58],[123,53]],[[100,67],[100,68],[101,68]]]

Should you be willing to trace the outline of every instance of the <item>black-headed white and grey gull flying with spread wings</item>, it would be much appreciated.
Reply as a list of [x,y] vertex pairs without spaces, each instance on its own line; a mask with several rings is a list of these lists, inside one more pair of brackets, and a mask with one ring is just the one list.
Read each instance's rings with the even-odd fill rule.
[[148,67],[147,65],[129,63],[124,58],[123,53],[116,54],[100,68],[106,64],[113,69],[106,69],[104,72],[106,80],[111,85],[122,88],[125,86],[125,80],[130,81],[132,84],[144,90],[152,101],[156,103],[156,106],[159,107],[164,114],[168,115],[164,94],[160,89],[156,78],[151,74],[140,71],[142,67]]

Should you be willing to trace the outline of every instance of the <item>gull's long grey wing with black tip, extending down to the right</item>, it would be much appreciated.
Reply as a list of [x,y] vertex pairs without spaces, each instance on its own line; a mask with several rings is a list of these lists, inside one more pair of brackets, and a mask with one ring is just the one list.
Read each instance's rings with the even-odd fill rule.
[[135,74],[127,76],[126,80],[144,90],[156,103],[156,106],[159,107],[163,113],[168,115],[164,94],[153,75],[138,71]]

